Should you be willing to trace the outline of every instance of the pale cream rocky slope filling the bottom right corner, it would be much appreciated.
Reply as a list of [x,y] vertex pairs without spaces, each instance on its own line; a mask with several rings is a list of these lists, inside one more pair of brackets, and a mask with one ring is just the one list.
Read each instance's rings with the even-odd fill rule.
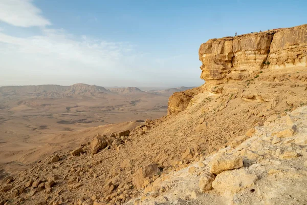
[[306,183],[307,106],[150,180],[128,204],[305,204]]

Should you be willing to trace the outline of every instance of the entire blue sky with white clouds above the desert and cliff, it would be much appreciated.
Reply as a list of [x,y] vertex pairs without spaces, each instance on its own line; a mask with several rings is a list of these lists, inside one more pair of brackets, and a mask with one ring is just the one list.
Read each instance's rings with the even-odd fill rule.
[[200,86],[210,38],[307,23],[307,1],[0,0],[0,86]]

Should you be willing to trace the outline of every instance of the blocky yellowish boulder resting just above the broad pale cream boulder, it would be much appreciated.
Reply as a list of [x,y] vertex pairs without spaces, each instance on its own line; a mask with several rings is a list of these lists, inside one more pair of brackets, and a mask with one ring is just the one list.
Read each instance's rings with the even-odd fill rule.
[[219,174],[226,170],[233,170],[243,167],[243,159],[230,154],[220,154],[212,159],[210,172]]

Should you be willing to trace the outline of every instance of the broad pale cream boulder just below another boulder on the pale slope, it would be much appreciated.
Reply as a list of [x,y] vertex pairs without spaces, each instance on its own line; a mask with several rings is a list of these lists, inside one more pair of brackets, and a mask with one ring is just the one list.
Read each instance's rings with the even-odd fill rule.
[[255,174],[248,174],[245,169],[231,170],[218,174],[212,187],[220,193],[236,193],[253,186],[257,180]]

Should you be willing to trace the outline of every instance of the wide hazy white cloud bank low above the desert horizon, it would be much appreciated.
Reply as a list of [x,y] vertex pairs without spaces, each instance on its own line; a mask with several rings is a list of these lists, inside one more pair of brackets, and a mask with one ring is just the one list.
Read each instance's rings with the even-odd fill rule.
[[[62,78],[68,80],[65,83],[68,85],[82,78],[124,78],[126,66],[135,56],[129,43],[105,42],[87,36],[77,40],[63,30],[44,29],[43,35],[27,38],[0,32],[3,73],[0,81],[16,84],[14,81],[21,79],[20,84],[29,85],[33,80],[35,84],[46,84]],[[29,73],[31,76],[24,78]],[[40,74],[39,78],[36,74]]]

